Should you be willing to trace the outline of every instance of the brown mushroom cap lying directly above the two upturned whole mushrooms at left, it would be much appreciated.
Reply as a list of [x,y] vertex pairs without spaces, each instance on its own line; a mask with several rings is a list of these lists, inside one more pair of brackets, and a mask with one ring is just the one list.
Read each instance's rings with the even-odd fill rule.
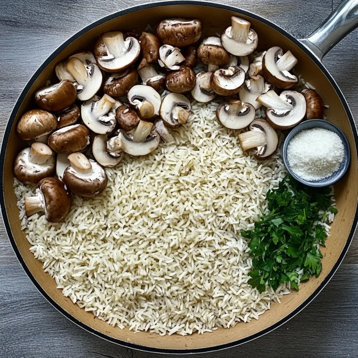
[[56,153],[70,154],[86,149],[89,144],[89,131],[82,124],[63,127],[54,131],[48,145]]

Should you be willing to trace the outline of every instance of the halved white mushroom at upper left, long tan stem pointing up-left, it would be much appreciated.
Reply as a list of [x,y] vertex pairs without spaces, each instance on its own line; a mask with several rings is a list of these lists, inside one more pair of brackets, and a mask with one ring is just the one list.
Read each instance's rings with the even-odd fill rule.
[[102,72],[91,52],[80,52],[70,56],[66,69],[76,80],[77,99],[87,101],[102,86]]

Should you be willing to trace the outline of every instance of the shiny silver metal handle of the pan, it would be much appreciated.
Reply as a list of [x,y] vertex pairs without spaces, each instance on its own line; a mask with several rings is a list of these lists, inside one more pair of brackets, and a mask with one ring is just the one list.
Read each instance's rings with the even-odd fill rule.
[[315,32],[300,41],[320,60],[358,26],[358,0],[344,0]]

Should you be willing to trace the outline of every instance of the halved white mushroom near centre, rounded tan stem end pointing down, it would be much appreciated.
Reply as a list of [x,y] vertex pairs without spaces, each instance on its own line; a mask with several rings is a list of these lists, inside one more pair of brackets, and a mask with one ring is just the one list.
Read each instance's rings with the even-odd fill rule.
[[154,88],[137,84],[129,90],[127,97],[130,106],[137,110],[142,119],[151,119],[159,115],[161,98]]

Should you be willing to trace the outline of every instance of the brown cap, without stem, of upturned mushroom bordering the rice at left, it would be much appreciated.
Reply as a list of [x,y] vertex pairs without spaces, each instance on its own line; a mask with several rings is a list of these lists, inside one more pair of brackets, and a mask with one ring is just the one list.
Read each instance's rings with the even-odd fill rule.
[[67,187],[82,197],[94,197],[103,192],[107,185],[107,175],[101,165],[92,159],[89,159],[89,163],[92,168],[91,173],[82,174],[69,166],[63,174],[63,181]]

